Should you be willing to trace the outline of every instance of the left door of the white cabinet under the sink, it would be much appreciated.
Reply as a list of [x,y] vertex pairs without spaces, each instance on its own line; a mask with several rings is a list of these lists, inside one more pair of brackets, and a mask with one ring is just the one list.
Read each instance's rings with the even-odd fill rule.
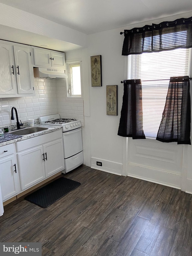
[[17,156],[22,190],[45,178],[43,146],[18,153]]

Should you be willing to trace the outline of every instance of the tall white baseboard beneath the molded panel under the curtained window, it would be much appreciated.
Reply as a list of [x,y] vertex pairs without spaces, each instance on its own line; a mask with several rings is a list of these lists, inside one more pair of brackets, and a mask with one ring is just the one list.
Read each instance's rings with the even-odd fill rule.
[[181,174],[129,163],[128,176],[181,189]]

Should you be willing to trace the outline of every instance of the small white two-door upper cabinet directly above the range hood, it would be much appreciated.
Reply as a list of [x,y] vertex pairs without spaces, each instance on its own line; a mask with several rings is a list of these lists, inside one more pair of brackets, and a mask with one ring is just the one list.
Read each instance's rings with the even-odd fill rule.
[[32,47],[34,67],[65,69],[65,54],[44,48]]

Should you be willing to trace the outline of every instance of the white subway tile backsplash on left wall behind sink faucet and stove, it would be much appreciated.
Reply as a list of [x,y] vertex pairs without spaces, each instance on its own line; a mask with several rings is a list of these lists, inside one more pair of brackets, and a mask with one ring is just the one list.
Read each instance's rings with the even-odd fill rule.
[[11,108],[16,107],[21,122],[30,118],[57,113],[57,95],[55,81],[35,79],[35,96],[19,98],[0,98],[0,126],[16,123],[10,120]]

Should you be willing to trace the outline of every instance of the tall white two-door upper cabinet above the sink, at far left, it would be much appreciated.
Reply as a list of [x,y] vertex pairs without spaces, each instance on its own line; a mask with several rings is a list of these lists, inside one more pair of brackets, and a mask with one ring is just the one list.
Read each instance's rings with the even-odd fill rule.
[[0,40],[0,98],[35,95],[31,46]]

